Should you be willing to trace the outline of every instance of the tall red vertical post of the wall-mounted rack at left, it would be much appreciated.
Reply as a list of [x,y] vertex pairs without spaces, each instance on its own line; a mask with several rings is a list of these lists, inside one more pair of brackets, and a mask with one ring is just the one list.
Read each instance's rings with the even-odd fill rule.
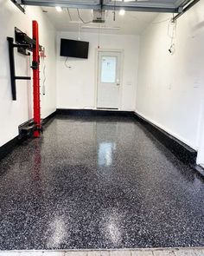
[[39,56],[39,37],[38,37],[38,23],[33,21],[33,39],[35,45],[33,49],[33,95],[34,95],[34,121],[36,130],[35,137],[40,137],[41,131],[41,100],[40,100],[40,56]]

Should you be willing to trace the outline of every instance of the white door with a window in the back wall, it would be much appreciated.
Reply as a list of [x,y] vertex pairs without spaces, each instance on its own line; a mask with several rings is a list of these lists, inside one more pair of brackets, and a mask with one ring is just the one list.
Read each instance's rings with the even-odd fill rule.
[[119,108],[121,53],[99,51],[97,108]]

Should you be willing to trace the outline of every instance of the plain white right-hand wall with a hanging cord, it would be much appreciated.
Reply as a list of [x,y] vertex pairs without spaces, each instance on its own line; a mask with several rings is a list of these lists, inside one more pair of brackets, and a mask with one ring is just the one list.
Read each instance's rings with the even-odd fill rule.
[[199,147],[204,97],[204,1],[177,21],[175,54],[168,52],[170,15],[156,17],[140,41],[136,112]]

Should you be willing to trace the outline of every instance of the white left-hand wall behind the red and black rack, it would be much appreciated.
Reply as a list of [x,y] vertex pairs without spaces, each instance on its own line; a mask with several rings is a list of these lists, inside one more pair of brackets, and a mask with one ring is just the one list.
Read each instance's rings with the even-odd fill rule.
[[[54,112],[55,103],[55,31],[38,7],[27,7],[23,14],[10,0],[0,0],[0,146],[18,135],[18,125],[32,118],[32,81],[17,81],[17,101],[12,101],[7,36],[14,27],[32,37],[32,20],[39,23],[40,43],[46,48],[46,95],[41,95],[41,117]],[[29,58],[15,51],[16,75],[30,75]],[[41,65],[42,68],[42,65]],[[31,74],[32,75],[32,74]],[[41,78],[43,78],[41,70]],[[41,80],[42,82],[42,80]]]

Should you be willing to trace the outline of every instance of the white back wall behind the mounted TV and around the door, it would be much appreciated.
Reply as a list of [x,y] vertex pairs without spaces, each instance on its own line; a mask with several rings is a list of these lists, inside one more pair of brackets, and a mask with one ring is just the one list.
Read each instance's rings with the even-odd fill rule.
[[[77,39],[78,33],[59,32],[57,36],[57,108],[95,108],[96,89],[96,49],[99,36],[94,33],[81,33],[80,40],[88,41],[87,60],[60,56],[60,39]],[[124,49],[122,83],[122,110],[134,110],[136,102],[136,82],[139,53],[138,36],[100,35],[100,49]]]

